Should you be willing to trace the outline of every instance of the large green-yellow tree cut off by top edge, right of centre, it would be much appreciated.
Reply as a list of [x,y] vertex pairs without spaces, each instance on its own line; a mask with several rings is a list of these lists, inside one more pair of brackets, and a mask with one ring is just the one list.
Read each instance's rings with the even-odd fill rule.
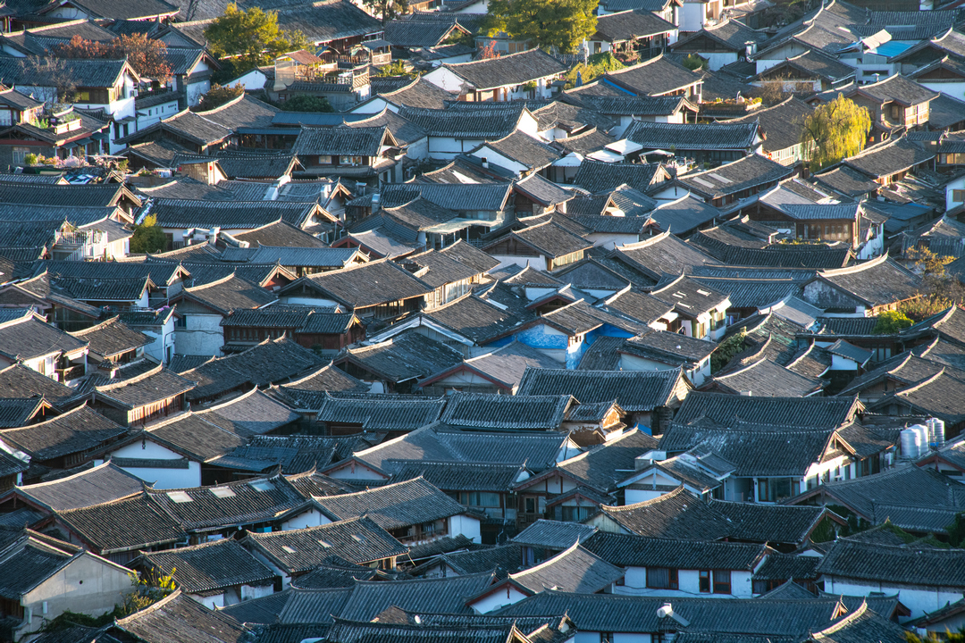
[[489,0],[488,36],[505,32],[544,50],[572,53],[596,31],[597,0]]

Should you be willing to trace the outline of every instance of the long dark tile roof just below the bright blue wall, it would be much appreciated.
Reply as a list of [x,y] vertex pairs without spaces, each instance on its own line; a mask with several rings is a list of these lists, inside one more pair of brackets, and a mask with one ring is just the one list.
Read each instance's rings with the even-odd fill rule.
[[680,372],[574,371],[527,368],[518,395],[572,395],[581,404],[617,400],[628,413],[652,411],[676,399]]

